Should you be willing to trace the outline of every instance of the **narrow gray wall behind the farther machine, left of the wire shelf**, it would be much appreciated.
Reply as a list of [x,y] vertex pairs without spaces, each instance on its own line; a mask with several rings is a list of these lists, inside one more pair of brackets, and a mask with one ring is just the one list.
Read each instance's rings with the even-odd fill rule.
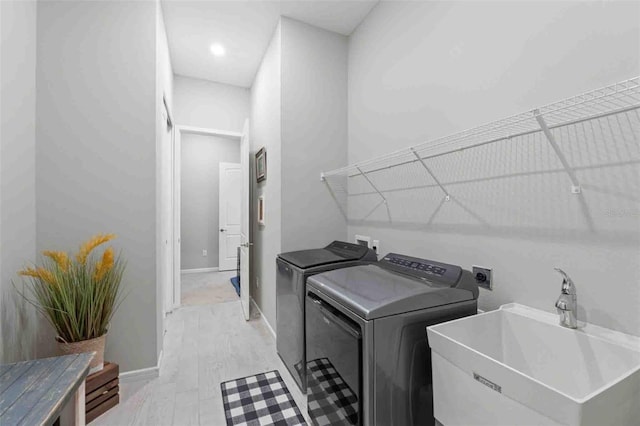
[[324,247],[347,222],[322,170],[347,161],[347,37],[282,18],[282,251]]

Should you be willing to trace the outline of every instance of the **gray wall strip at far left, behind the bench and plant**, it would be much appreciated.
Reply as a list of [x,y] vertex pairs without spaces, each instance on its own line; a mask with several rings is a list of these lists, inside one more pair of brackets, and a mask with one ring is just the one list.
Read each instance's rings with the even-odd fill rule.
[[47,354],[40,318],[11,284],[35,260],[36,15],[35,2],[0,2],[0,363]]

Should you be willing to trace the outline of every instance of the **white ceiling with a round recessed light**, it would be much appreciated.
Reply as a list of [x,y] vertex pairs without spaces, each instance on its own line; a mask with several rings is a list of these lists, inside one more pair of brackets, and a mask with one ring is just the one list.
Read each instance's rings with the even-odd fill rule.
[[[250,87],[281,15],[349,35],[376,3],[163,0],[162,10],[176,74]],[[212,43],[226,55],[214,57]]]

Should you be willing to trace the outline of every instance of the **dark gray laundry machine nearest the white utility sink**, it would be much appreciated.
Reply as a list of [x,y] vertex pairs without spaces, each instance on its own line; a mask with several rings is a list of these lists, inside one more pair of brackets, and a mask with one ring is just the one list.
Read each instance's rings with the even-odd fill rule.
[[432,425],[426,327],[474,315],[460,266],[390,253],[307,280],[307,411],[318,425]]

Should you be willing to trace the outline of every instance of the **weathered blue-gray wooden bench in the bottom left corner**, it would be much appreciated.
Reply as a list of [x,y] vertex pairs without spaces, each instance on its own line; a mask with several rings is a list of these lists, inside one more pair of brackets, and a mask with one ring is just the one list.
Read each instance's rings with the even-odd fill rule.
[[73,398],[85,424],[85,378],[91,353],[0,365],[0,425],[52,425]]

